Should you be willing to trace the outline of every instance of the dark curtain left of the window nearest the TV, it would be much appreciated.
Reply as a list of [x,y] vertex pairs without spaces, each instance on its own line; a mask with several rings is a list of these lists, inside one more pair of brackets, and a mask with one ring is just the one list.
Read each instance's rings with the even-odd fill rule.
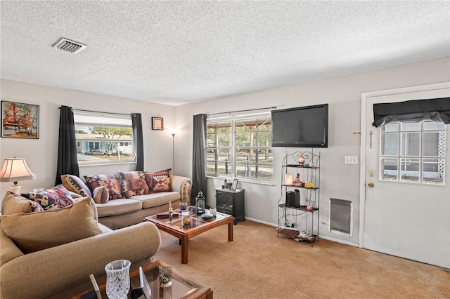
[[192,193],[191,204],[195,205],[198,192],[206,193],[206,115],[194,115],[193,154],[192,154]]

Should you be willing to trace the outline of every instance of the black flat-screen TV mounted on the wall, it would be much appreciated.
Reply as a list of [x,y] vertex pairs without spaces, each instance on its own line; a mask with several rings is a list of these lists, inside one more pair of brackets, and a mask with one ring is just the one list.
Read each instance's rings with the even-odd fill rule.
[[273,147],[328,147],[328,104],[272,110]]

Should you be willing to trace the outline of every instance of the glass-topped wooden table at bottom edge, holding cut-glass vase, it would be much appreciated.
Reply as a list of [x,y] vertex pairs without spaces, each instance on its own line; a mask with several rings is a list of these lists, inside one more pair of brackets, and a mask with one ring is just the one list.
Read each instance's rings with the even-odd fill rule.
[[[142,267],[143,272],[146,274],[148,284],[150,285],[150,290],[152,292],[152,298],[184,298],[184,299],[212,299],[212,289],[189,277],[187,274],[176,270],[172,267],[172,286],[161,287],[159,279],[159,269],[162,266],[169,266],[166,263],[157,260],[150,265]],[[131,298],[131,290],[134,288],[139,288],[139,270],[135,270],[129,274],[131,288],[128,293],[128,298]],[[106,295],[106,284],[101,284],[98,286],[100,288],[102,298],[108,298]],[[79,294],[72,299],[82,298],[86,295],[88,291]]]

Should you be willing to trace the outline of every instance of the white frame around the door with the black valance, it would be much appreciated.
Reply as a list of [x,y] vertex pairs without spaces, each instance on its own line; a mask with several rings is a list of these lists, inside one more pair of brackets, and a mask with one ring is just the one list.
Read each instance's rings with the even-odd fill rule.
[[418,91],[432,91],[436,89],[450,88],[449,82],[436,84],[426,84],[419,86],[410,86],[404,88],[387,89],[384,91],[370,91],[361,93],[361,152],[359,168],[359,248],[364,248],[364,235],[366,233],[366,139],[367,132],[372,128],[366,127],[367,98],[373,98],[382,95],[397,95],[401,93],[414,93]]

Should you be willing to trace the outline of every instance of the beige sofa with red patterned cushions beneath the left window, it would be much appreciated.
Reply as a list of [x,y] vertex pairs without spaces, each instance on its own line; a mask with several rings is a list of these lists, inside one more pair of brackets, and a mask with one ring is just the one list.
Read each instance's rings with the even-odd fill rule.
[[[79,178],[61,175],[63,185],[71,192],[86,196],[94,194],[98,211],[98,222],[117,230],[143,221],[156,213],[179,208],[179,203],[191,202],[192,180],[179,175],[170,175],[170,170],[157,173],[128,171],[104,175],[84,175],[85,184]],[[81,185],[81,186],[80,186]],[[109,199],[103,201],[95,190],[104,187]]]

